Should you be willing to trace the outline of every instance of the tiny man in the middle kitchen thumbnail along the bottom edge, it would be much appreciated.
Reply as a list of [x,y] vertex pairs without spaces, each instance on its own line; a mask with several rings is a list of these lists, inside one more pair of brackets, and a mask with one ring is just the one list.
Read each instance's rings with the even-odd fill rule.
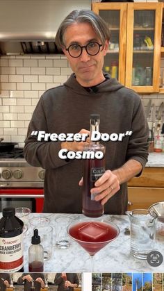
[[[32,283],[33,282],[33,283]],[[24,291],[31,290],[32,285],[35,291],[40,291],[40,288],[44,288],[44,274],[43,273],[24,273],[17,279],[18,284],[24,283]]]

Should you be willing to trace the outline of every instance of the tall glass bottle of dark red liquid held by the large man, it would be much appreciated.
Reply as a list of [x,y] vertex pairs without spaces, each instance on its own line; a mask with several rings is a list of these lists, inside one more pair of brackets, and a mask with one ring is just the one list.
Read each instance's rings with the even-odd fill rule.
[[[99,132],[99,115],[90,115],[90,136],[93,131]],[[101,151],[103,156],[105,154],[105,147],[99,142],[92,142],[88,147],[85,147],[85,151]],[[99,217],[104,214],[104,206],[101,205],[101,201],[95,201],[95,195],[91,194],[90,190],[95,188],[95,182],[105,172],[105,158],[101,159],[86,159],[83,160],[83,215],[88,217]],[[98,193],[97,193],[98,194]]]

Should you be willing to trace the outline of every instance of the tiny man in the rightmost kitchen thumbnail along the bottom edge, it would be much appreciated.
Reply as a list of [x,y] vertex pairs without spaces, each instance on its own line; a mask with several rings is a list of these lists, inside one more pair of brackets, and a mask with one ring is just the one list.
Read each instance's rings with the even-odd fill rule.
[[57,273],[54,284],[58,285],[58,291],[74,291],[79,285],[79,278],[76,273]]

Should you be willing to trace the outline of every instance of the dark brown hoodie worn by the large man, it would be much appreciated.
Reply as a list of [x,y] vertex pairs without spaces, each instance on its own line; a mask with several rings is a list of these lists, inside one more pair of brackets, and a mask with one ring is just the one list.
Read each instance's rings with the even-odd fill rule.
[[[46,169],[44,179],[44,212],[81,213],[82,160],[68,163],[58,157],[60,142],[39,142],[32,131],[46,133],[79,133],[90,130],[90,114],[100,115],[101,133],[126,133],[131,136],[122,142],[105,142],[106,169],[117,169],[129,159],[147,162],[148,126],[140,97],[125,88],[115,78],[105,74],[106,81],[86,90],[72,74],[56,88],[44,92],[28,127],[24,153],[27,162]],[[103,143],[103,142],[102,142]],[[105,206],[105,213],[124,214],[127,206],[127,187],[120,190]]]

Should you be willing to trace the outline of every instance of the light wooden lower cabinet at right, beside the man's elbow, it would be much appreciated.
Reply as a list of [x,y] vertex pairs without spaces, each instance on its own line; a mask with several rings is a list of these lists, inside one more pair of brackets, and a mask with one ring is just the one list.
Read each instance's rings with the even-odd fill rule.
[[149,208],[164,201],[164,167],[145,167],[140,177],[128,183],[129,210]]

